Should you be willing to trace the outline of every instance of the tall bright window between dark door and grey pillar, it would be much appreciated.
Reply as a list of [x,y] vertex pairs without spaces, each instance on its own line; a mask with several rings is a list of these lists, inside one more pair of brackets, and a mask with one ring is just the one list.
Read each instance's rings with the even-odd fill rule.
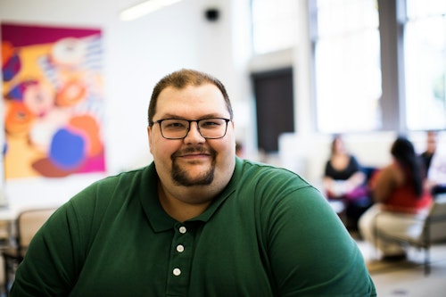
[[381,128],[376,0],[315,0],[311,10],[318,130]]

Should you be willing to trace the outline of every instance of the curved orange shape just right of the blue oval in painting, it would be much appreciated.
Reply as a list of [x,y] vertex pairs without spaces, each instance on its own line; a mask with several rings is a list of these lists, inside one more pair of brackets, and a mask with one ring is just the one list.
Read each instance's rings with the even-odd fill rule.
[[99,125],[93,116],[88,114],[75,116],[70,119],[69,126],[86,137],[88,156],[95,156],[103,151]]

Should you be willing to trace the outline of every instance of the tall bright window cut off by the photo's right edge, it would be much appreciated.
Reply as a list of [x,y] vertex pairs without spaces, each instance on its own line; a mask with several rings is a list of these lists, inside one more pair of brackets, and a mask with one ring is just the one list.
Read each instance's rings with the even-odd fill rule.
[[446,128],[446,1],[407,0],[406,120],[410,130]]

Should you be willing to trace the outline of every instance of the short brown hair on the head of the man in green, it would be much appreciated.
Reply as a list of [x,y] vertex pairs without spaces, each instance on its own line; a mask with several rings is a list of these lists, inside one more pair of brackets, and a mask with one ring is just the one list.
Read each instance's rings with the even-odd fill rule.
[[230,115],[230,120],[232,120],[234,118],[234,111],[232,110],[232,105],[229,100],[229,96],[227,95],[226,88],[219,81],[219,79],[214,78],[211,75],[201,71],[182,69],[172,72],[164,78],[161,78],[156,86],[153,87],[153,93],[149,103],[149,110],[147,112],[149,126],[153,126],[153,116],[156,113],[156,103],[158,102],[158,96],[161,94],[161,91],[163,89],[165,89],[166,87],[175,87],[181,89],[187,86],[201,86],[202,84],[206,83],[210,83],[219,88],[221,94],[225,99],[227,111],[229,111]]

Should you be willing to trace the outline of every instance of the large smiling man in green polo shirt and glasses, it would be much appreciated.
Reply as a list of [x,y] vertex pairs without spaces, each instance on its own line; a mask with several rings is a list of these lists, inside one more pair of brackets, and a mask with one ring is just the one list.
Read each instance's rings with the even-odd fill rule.
[[153,163],[108,177],[37,233],[12,296],[375,296],[356,243],[293,172],[235,157],[218,79],[154,87]]

